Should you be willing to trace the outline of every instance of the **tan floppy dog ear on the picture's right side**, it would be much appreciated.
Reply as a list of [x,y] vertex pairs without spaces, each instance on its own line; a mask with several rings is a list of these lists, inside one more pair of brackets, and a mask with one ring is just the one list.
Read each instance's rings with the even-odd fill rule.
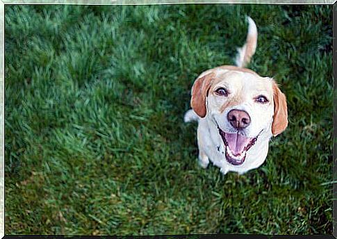
[[272,122],[272,135],[276,136],[282,133],[288,126],[288,109],[286,95],[284,95],[277,83],[272,83],[274,92],[274,116]]

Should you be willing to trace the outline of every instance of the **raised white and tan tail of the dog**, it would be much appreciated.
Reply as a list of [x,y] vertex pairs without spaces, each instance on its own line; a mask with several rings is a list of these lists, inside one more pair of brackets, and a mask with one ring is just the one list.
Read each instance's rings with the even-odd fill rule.
[[255,53],[256,50],[256,44],[257,44],[257,28],[256,24],[253,21],[252,18],[247,17],[248,20],[248,34],[246,43],[243,45],[243,47],[238,48],[238,54],[236,55],[236,65],[238,67],[245,67],[252,56]]

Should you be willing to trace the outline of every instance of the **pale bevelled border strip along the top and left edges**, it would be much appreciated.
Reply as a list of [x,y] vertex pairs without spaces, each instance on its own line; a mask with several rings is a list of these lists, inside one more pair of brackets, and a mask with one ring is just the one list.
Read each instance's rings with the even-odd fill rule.
[[5,4],[165,5],[186,3],[334,4],[337,0],[0,0],[0,238],[5,236]]

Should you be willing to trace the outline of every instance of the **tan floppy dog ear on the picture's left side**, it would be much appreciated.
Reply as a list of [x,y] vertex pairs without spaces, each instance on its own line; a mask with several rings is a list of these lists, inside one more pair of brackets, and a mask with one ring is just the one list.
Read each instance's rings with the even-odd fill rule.
[[202,118],[206,116],[206,97],[214,76],[214,73],[209,73],[199,77],[192,86],[190,104],[195,113]]

